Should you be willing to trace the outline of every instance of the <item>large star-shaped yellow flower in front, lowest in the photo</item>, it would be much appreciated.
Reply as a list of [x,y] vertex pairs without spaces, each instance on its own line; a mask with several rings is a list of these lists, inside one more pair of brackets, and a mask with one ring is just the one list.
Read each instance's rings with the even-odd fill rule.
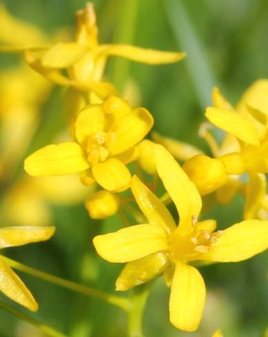
[[194,261],[236,262],[268,247],[268,221],[249,220],[214,232],[216,221],[198,222],[200,195],[176,160],[161,145],[154,146],[158,175],[180,217],[175,224],[164,204],[137,177],[132,192],[147,223],[94,237],[96,251],[107,261],[125,263],[116,281],[127,290],[164,273],[171,285],[169,318],[178,329],[198,328],[205,305],[205,283]]

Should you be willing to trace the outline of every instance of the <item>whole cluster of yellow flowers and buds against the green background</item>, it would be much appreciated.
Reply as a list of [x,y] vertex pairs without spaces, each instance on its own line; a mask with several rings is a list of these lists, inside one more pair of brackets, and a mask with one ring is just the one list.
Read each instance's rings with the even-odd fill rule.
[[[70,137],[26,157],[25,171],[41,182],[50,176],[78,174],[81,184],[91,186],[78,193],[90,217],[104,219],[119,213],[125,220],[116,232],[93,238],[103,259],[126,263],[116,290],[129,290],[162,275],[170,287],[170,322],[178,329],[195,331],[206,299],[198,266],[243,261],[268,248],[268,80],[254,83],[237,107],[214,89],[214,106],[205,111],[210,123],[200,126],[210,156],[158,133],[145,139],[154,118],[143,107],[133,109],[103,79],[107,58],[121,56],[154,65],[181,61],[185,53],[100,44],[90,3],[76,19],[73,42],[50,44],[39,39],[39,44],[32,39],[26,46],[0,47],[3,52],[22,52],[34,72],[68,87]],[[42,82],[42,88],[48,90],[49,85]],[[214,136],[214,127],[224,131],[221,139]],[[69,186],[63,193],[76,194],[69,180],[63,184]],[[236,193],[245,197],[243,219],[216,230],[216,220],[204,219],[207,209],[228,204]],[[206,195],[214,197],[204,210]],[[169,209],[171,204],[177,215]],[[130,224],[130,219],[137,224]],[[1,228],[0,248],[45,240],[53,232],[54,227]],[[2,259],[0,276],[0,289],[7,296],[37,309],[30,292]]]

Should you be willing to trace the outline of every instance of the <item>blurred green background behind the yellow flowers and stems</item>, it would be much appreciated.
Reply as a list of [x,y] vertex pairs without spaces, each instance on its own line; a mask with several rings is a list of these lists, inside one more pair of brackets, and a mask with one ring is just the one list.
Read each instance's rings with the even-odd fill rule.
[[[205,106],[211,104],[212,88],[220,87],[235,104],[254,80],[268,78],[268,2],[265,0],[92,2],[96,6],[101,43],[130,43],[187,52],[183,62],[172,65],[150,66],[113,58],[107,67],[106,78],[116,83],[118,89],[123,90],[130,79],[135,83],[138,104],[152,112],[154,130],[163,135],[207,150],[205,142],[198,138],[198,126],[205,120]],[[85,5],[81,0],[6,0],[3,3],[14,17],[34,23],[48,36],[60,28],[74,31],[74,13]],[[19,60],[15,56],[1,56],[1,69]],[[62,88],[55,88],[49,102],[43,105],[39,133],[29,153],[50,144],[65,129],[63,94]],[[98,232],[118,228],[118,217],[92,221],[83,204],[50,207],[57,229],[54,238],[46,243],[6,250],[8,256],[65,279],[114,292],[121,265],[97,257],[91,238]],[[225,228],[240,221],[242,211],[243,200],[237,197],[229,206],[216,207],[212,215],[218,219],[219,227]],[[207,305],[203,322],[194,333],[184,333],[170,325],[169,290],[158,279],[145,308],[145,336],[207,337],[219,328],[227,337],[262,336],[268,326],[267,270],[267,253],[242,263],[202,268]],[[126,317],[120,309],[20,275],[39,302],[39,312],[34,316],[42,322],[72,337],[126,336]],[[0,336],[42,335],[1,310]]]

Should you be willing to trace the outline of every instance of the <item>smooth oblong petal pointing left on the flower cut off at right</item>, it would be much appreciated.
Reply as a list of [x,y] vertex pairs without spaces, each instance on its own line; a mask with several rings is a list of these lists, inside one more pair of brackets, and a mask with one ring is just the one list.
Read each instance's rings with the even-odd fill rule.
[[223,109],[208,107],[205,116],[220,129],[235,135],[247,144],[258,145],[258,133],[254,124],[240,114]]

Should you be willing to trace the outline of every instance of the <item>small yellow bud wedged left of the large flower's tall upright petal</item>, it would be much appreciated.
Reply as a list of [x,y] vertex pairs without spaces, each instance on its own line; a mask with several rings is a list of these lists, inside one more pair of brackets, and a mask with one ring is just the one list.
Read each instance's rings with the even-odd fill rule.
[[151,142],[150,140],[143,140],[138,144],[138,163],[141,165],[141,168],[149,174],[156,173],[153,145],[154,142]]

